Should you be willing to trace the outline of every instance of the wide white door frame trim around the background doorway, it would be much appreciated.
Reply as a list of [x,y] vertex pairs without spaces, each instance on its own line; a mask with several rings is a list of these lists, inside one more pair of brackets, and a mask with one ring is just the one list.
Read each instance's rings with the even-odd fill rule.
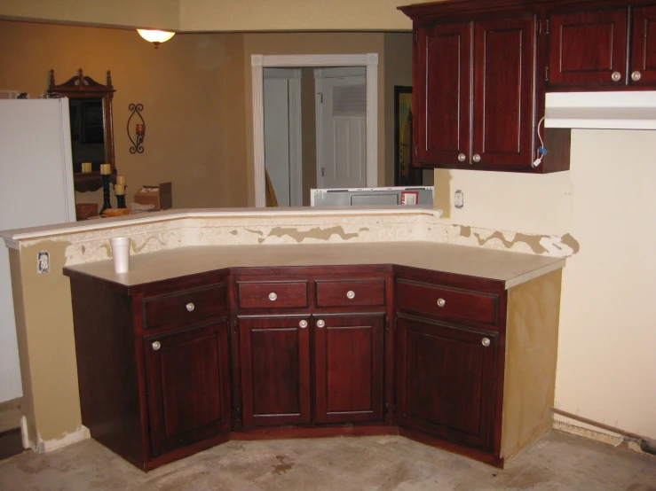
[[378,184],[378,53],[357,55],[251,55],[253,86],[253,166],[255,206],[266,207],[265,194],[265,66],[367,67],[367,186]]

